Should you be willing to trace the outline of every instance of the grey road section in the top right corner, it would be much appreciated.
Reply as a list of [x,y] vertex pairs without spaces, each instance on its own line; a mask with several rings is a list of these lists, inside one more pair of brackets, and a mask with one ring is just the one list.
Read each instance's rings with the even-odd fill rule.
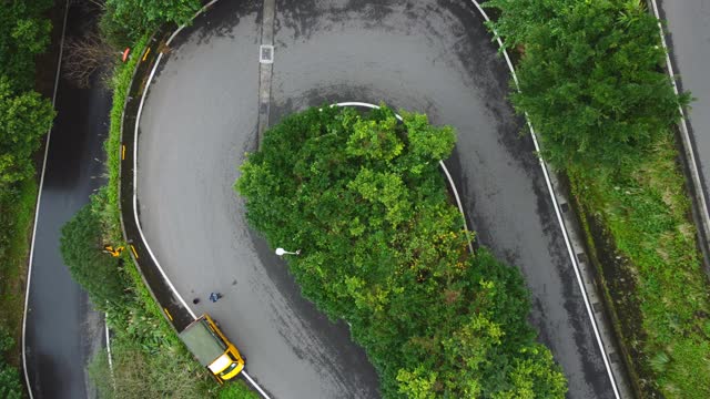
[[687,114],[700,163],[706,198],[710,192],[710,1],[658,1],[661,18],[667,20],[668,45],[680,90],[696,100]]

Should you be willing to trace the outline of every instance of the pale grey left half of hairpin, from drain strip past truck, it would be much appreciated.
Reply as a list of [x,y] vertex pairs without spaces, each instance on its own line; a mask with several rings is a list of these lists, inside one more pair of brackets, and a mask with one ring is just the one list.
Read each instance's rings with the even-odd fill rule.
[[[141,224],[192,309],[220,321],[275,397],[376,397],[376,375],[347,328],[301,297],[232,191],[256,146],[260,10],[217,2],[172,45],[141,116]],[[224,297],[212,304],[211,291]]]

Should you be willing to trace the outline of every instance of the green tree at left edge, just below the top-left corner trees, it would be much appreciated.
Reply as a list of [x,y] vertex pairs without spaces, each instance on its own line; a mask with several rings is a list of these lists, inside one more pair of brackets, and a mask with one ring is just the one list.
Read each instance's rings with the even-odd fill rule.
[[36,92],[13,94],[0,76],[0,190],[34,174],[32,154],[54,119],[49,100]]

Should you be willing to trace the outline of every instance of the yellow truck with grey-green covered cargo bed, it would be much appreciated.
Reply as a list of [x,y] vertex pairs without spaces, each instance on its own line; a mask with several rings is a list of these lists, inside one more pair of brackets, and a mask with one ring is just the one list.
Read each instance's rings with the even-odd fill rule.
[[206,314],[185,327],[180,332],[180,339],[220,382],[236,377],[244,369],[244,359],[240,351]]

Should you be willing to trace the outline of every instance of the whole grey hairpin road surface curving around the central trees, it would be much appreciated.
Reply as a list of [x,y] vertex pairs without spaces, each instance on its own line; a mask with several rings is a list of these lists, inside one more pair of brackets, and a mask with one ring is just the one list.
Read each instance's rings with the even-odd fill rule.
[[[363,350],[301,297],[232,190],[256,147],[261,6],[217,2],[159,70],[140,124],[142,225],[185,300],[202,299],[193,310],[220,320],[275,397],[376,397]],[[508,70],[473,6],[282,0],[274,30],[272,124],[324,102],[385,101],[457,129],[447,165],[480,243],[523,270],[568,396],[611,398],[532,142],[506,102]]]

